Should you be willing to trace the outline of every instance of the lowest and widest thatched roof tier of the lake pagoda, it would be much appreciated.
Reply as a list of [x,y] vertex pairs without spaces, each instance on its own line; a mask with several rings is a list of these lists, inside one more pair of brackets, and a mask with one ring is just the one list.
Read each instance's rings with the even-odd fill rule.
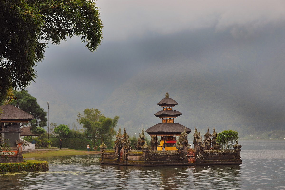
[[[145,132],[149,135],[167,135],[167,134],[175,134],[181,135],[181,132],[184,131],[185,126],[179,123],[158,123],[147,130]],[[186,133],[189,134],[192,130],[186,127]]]

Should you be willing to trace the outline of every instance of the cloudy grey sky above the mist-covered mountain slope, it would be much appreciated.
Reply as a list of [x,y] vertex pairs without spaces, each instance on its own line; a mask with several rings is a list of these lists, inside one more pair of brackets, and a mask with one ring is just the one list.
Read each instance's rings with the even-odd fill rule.
[[[84,94],[101,101],[130,77],[162,62],[165,54],[177,48],[188,48],[199,55],[200,50],[205,52],[209,41],[212,47],[226,38],[250,41],[285,26],[284,0],[96,3],[104,26],[97,52],[89,52],[76,37],[60,46],[48,44],[46,58],[36,68],[36,83],[41,81],[41,85],[49,85],[66,98]],[[35,83],[33,86],[38,88]],[[35,88],[27,90],[43,99]]]

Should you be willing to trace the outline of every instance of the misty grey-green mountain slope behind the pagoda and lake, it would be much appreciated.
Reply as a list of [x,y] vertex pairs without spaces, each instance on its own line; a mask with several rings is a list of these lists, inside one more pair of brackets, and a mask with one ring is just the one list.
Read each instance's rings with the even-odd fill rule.
[[137,127],[161,122],[153,114],[161,110],[156,103],[168,91],[179,103],[174,109],[182,113],[175,121],[192,130],[284,129],[285,57],[279,41],[284,36],[279,32],[252,43],[221,42],[223,48],[208,48],[199,58],[174,49],[118,87],[100,108],[120,113],[119,123],[138,132]]

